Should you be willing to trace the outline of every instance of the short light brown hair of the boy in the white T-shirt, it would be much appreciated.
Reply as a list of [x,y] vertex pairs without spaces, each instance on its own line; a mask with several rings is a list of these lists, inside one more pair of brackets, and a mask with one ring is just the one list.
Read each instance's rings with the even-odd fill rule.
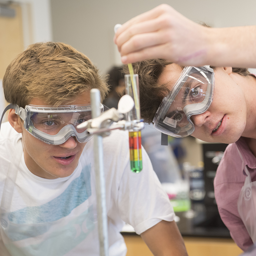
[[7,67],[3,78],[7,102],[25,107],[33,98],[60,106],[82,92],[97,88],[103,100],[105,77],[83,53],[68,44],[44,42],[28,46]]

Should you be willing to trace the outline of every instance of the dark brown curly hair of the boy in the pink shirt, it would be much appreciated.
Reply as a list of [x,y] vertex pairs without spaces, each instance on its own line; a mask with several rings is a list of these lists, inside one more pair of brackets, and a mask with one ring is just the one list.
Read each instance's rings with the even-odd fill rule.
[[[158,107],[170,90],[158,84],[158,78],[167,65],[173,62],[153,59],[133,63],[134,74],[139,75],[140,88],[140,114],[145,123],[152,123]],[[181,68],[184,68],[181,66]],[[216,67],[211,68],[215,69]],[[125,74],[129,74],[127,65],[123,68]],[[250,74],[247,68],[232,68],[232,72],[241,76]]]

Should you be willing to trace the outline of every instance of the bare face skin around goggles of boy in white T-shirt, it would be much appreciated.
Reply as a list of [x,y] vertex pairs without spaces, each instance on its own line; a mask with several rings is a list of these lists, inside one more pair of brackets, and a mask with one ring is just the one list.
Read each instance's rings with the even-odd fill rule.
[[[30,104],[47,106],[41,99],[34,98]],[[84,92],[71,102],[64,105],[90,104],[90,92]],[[86,143],[80,143],[76,137],[70,137],[60,145],[49,145],[25,130],[23,121],[11,109],[8,120],[17,132],[22,133],[23,151],[25,163],[30,172],[45,179],[63,178],[71,175]],[[63,160],[60,157],[71,156]]]

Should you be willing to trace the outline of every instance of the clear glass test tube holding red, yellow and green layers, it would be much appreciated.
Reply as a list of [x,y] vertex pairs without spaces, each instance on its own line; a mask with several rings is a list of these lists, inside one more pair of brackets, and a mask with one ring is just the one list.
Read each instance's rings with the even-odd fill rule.
[[[134,100],[134,107],[127,114],[128,121],[140,120],[140,95],[139,95],[139,76],[124,76],[126,94],[129,94]],[[134,97],[135,95],[135,97]],[[140,130],[129,130],[130,145],[130,164],[132,172],[140,172],[142,170],[142,154],[141,154],[141,132]]]

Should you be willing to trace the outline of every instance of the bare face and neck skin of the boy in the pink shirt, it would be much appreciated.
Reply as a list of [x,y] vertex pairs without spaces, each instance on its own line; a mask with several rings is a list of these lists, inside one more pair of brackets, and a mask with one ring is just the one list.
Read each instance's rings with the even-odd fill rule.
[[[158,79],[172,89],[182,68],[177,64],[166,66]],[[215,88],[210,108],[191,116],[195,125],[192,136],[207,142],[233,143],[241,136],[256,139],[256,79],[232,73],[231,67],[214,70]],[[221,125],[213,132],[218,123]]]

